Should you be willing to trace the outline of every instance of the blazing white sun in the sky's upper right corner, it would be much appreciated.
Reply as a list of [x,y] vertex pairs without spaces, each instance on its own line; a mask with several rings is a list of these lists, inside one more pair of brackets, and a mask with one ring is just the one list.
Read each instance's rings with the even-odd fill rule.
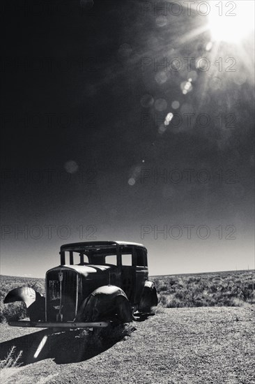
[[254,31],[254,0],[211,1],[208,24],[212,40],[240,43]]

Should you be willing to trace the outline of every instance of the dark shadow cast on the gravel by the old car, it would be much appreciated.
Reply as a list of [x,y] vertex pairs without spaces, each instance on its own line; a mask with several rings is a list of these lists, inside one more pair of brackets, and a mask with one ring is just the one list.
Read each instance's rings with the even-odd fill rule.
[[118,341],[130,336],[134,327],[114,330],[68,330],[52,332],[41,330],[17,337],[0,344],[0,360],[4,360],[15,346],[15,354],[22,350],[20,365],[24,366],[52,358],[56,364],[82,362],[111,348]]

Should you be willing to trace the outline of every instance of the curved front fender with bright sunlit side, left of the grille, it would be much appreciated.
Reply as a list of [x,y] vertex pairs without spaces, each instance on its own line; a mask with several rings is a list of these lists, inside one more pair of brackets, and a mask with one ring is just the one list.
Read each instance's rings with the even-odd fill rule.
[[24,302],[31,321],[45,320],[45,297],[30,287],[19,287],[10,290],[3,304]]

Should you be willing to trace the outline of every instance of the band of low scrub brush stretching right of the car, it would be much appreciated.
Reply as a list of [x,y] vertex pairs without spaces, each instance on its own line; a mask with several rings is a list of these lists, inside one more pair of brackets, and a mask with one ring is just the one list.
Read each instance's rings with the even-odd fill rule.
[[163,307],[215,307],[255,304],[254,272],[157,276],[159,303]]

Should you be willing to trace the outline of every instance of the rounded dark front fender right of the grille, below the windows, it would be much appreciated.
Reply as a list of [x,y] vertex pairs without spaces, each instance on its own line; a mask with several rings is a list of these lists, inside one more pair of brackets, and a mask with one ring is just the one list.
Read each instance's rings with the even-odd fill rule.
[[117,316],[122,323],[132,321],[130,302],[121,288],[102,286],[84,300],[75,320],[101,321],[114,316]]

